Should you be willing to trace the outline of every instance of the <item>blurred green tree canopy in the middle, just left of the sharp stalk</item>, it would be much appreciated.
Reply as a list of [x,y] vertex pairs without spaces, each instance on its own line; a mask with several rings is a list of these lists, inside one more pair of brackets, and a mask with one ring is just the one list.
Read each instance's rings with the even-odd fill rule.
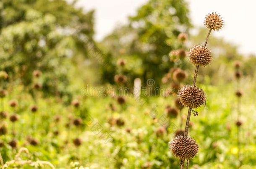
[[168,54],[179,47],[178,34],[188,32],[190,27],[184,0],[149,0],[129,18],[128,25],[116,28],[102,41],[109,53],[102,79],[113,83],[114,75],[120,73],[116,60],[124,58],[127,64],[121,73],[128,76],[130,85],[139,77],[144,84],[153,78],[159,86],[172,67]]

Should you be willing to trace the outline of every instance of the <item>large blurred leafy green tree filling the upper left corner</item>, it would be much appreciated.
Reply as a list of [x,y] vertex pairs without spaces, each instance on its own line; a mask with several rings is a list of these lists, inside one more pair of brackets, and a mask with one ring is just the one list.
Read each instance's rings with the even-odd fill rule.
[[69,60],[87,53],[78,34],[93,41],[93,14],[65,0],[1,0],[0,69],[26,86],[39,69],[44,93],[65,95]]

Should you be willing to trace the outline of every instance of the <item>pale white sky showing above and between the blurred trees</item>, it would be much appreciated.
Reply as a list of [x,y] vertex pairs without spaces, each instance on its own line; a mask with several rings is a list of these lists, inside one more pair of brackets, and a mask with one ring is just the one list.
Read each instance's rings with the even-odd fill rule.
[[[86,11],[95,9],[96,40],[101,40],[120,23],[127,23],[127,16],[136,14],[137,8],[148,0],[78,0]],[[187,0],[190,18],[195,26],[204,26],[207,13],[219,13],[224,28],[215,33],[234,43],[243,54],[256,54],[256,0]]]

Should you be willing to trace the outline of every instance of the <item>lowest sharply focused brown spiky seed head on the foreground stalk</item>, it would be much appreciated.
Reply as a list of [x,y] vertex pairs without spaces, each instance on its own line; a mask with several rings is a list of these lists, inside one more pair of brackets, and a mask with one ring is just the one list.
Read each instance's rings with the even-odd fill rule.
[[191,137],[176,136],[169,142],[169,149],[179,159],[191,159],[199,151],[199,146]]

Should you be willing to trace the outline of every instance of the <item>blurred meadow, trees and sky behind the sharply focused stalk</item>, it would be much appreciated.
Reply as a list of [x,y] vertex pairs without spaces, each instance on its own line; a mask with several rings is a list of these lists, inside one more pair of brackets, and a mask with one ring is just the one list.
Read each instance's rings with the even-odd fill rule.
[[[211,34],[207,47],[213,60],[199,70],[197,84],[207,103],[192,118],[189,134],[200,151],[191,168],[256,168],[255,5],[251,0],[1,0],[3,164],[26,147],[29,158],[56,168],[178,168],[168,141],[183,129],[187,109],[175,104],[176,94],[193,81],[188,49],[204,43],[204,17],[217,12],[224,27]],[[178,71],[184,73],[181,79]],[[136,85],[148,92],[140,100],[134,98]],[[156,88],[165,92],[152,93]],[[157,122],[161,114],[175,127]],[[110,141],[95,133],[95,121]]]

